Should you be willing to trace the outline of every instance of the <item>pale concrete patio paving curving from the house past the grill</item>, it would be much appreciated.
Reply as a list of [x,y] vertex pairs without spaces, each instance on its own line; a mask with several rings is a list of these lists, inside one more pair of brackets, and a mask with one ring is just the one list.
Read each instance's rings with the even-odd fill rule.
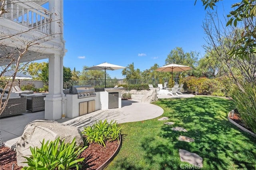
[[[160,94],[158,98],[186,98],[193,96],[190,94],[181,94],[179,96]],[[140,97],[142,98],[142,96]],[[82,130],[83,127],[92,125],[98,120],[107,119],[108,121],[116,120],[117,123],[126,123],[153,119],[164,113],[164,110],[159,106],[140,102],[141,98],[122,100],[122,108],[98,110],[74,119],[65,118],[56,121],[78,127]],[[18,137],[22,135],[26,125],[34,120],[44,120],[44,111],[35,113],[27,112],[14,117],[0,118],[1,138],[3,141],[6,141],[5,145],[7,147],[13,147],[18,141]]]

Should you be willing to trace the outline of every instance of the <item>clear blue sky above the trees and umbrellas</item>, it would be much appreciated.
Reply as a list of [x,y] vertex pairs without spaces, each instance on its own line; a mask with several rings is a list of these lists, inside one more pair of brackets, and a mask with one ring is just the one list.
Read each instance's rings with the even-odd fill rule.
[[[198,0],[64,0],[64,39],[68,52],[64,66],[111,63],[140,71],[165,64],[172,49],[204,55],[202,23],[206,11]],[[237,0],[224,0],[226,14]],[[201,57],[201,56],[199,56]],[[122,70],[107,71],[124,78]]]

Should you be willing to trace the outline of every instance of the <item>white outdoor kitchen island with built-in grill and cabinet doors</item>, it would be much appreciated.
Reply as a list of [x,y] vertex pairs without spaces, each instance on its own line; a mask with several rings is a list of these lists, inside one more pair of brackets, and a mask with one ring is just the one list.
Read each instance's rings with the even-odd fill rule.
[[74,118],[100,109],[122,107],[121,91],[125,88],[72,86],[66,93],[66,117]]

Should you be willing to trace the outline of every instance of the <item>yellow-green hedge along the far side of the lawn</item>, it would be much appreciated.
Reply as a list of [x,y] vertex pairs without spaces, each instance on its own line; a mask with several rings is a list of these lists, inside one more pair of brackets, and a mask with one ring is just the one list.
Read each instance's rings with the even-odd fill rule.
[[232,80],[228,76],[218,78],[196,78],[188,76],[180,80],[186,92],[212,96],[231,96]]

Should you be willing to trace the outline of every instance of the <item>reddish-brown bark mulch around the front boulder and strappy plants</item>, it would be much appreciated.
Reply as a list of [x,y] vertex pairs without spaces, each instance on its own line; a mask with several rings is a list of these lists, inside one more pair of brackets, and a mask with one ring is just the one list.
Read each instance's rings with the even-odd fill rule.
[[[118,148],[118,141],[107,142],[106,147],[92,143],[81,154],[85,158],[81,170],[96,170],[106,162]],[[0,147],[0,170],[21,170],[17,165],[16,152],[8,147]]]

